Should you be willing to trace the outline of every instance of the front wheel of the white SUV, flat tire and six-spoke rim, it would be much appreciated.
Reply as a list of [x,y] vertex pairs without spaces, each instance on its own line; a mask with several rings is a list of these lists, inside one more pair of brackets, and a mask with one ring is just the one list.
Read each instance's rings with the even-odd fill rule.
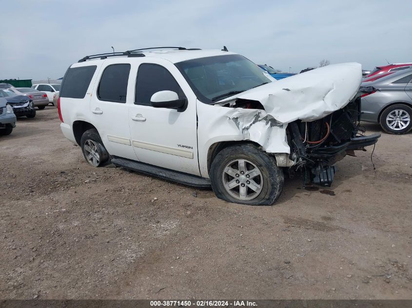
[[212,162],[210,179],[217,198],[249,205],[272,205],[284,180],[275,158],[252,144],[222,149]]

